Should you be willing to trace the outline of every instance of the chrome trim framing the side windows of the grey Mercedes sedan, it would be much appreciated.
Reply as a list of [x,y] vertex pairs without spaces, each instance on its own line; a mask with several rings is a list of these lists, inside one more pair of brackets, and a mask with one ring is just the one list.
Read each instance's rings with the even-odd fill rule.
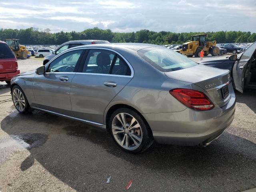
[[[70,52],[70,51],[75,51],[75,50],[84,50],[84,49],[103,49],[103,50],[109,50],[109,51],[112,51],[116,54],[118,54],[120,57],[122,57],[122,59],[124,59],[124,61],[128,64],[128,66],[130,67],[130,70],[131,70],[131,75],[128,76],[128,75],[114,75],[114,74],[96,74],[96,75],[109,75],[109,76],[122,76],[122,77],[130,77],[130,78],[133,78],[134,76],[134,69],[132,68],[132,65],[128,62],[128,60],[122,56],[119,52],[117,52],[116,50],[113,50],[113,49],[110,49],[110,48],[101,48],[101,47],[83,47],[83,48],[79,48],[79,46],[77,48],[72,48],[71,50],[66,50],[64,52],[61,52],[60,54],[56,55],[54,58],[52,58],[46,65],[45,67],[47,68],[48,65],[50,65],[50,63],[57,59],[59,56],[61,56],[62,54],[65,54],[67,52]],[[49,73],[49,72],[48,72]],[[56,72],[56,73],[59,73],[59,72]],[[74,72],[75,73],[75,72]],[[82,73],[82,72],[77,72],[78,74],[92,74],[92,73]]]

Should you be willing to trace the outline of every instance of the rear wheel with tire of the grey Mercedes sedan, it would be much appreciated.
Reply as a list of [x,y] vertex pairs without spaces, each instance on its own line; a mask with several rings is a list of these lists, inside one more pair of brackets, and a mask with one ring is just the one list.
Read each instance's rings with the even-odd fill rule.
[[120,108],[111,115],[109,129],[116,144],[127,152],[143,152],[154,141],[147,123],[128,108]]

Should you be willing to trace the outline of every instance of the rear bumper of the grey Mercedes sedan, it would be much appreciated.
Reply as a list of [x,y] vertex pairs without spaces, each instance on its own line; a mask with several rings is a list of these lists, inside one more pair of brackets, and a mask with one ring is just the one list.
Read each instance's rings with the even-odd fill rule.
[[196,146],[208,145],[220,136],[234,119],[234,92],[222,108],[198,112],[190,108],[181,112],[143,114],[158,143]]

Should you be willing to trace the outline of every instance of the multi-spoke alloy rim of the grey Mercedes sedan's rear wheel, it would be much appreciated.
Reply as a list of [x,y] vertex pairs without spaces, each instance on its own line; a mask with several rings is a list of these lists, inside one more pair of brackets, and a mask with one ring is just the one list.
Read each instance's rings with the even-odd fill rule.
[[112,133],[116,142],[126,150],[136,150],[142,143],[142,128],[128,113],[119,113],[113,118]]

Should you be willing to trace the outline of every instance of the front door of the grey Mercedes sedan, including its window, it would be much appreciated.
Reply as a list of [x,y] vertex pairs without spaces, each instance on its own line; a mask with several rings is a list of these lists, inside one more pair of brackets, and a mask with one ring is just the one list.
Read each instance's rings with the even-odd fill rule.
[[36,75],[33,93],[40,109],[72,116],[70,83],[84,50],[71,50],[57,56],[45,66],[45,73]]

